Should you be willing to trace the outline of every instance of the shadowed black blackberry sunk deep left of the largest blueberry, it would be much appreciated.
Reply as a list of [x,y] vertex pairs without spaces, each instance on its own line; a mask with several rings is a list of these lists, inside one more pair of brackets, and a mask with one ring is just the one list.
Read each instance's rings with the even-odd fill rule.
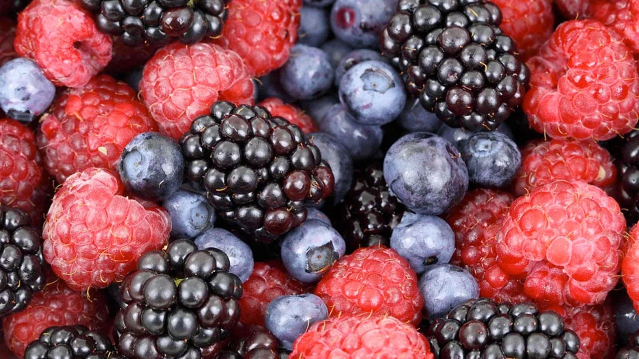
[[373,162],[355,170],[351,188],[331,220],[351,250],[380,244],[388,247],[404,210],[389,192],[381,163]]

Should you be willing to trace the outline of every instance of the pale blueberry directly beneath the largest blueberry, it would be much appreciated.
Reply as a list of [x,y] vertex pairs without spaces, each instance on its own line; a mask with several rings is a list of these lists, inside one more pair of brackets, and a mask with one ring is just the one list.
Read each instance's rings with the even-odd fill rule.
[[390,236],[390,248],[404,257],[417,274],[448,263],[455,251],[455,234],[445,220],[406,212]]

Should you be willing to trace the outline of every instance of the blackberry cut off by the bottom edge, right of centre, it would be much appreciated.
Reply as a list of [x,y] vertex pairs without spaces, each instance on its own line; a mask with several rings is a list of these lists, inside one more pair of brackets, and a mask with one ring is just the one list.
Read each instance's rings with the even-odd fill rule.
[[466,302],[426,332],[438,359],[576,359],[579,337],[557,313],[531,303],[497,304],[488,298]]

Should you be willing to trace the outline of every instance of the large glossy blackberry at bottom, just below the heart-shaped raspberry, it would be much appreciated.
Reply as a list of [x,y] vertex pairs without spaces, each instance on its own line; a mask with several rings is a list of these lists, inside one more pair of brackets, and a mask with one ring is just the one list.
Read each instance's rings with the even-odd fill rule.
[[215,357],[240,318],[242,282],[221,250],[190,240],[140,257],[122,283],[115,319],[118,349],[129,359]]

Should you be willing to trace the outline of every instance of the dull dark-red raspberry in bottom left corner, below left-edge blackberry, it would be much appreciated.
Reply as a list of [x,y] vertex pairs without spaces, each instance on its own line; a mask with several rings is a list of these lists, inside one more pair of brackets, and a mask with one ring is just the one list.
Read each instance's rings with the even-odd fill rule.
[[22,358],[29,343],[49,326],[86,325],[100,328],[108,316],[104,295],[98,291],[79,293],[50,275],[41,292],[33,294],[22,312],[3,319],[4,340]]

